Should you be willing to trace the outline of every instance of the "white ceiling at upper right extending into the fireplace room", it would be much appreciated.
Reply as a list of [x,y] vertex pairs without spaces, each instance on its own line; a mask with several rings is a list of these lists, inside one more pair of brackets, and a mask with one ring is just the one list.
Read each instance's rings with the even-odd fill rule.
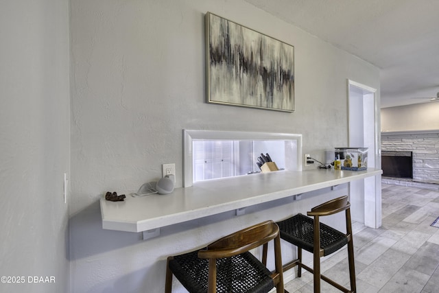
[[438,0],[246,1],[379,67],[382,108],[439,92]]

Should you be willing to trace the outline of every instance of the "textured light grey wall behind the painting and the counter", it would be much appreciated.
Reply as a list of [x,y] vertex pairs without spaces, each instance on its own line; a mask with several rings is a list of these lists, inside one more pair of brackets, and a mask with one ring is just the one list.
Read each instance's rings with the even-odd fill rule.
[[[295,46],[296,113],[204,102],[207,11]],[[147,241],[103,230],[106,191],[137,190],[162,163],[176,163],[182,186],[182,129],[302,133],[321,161],[347,145],[347,79],[379,89],[376,67],[241,0],[73,0],[71,36],[71,292],[163,292],[167,255],[329,198],[168,226]]]

